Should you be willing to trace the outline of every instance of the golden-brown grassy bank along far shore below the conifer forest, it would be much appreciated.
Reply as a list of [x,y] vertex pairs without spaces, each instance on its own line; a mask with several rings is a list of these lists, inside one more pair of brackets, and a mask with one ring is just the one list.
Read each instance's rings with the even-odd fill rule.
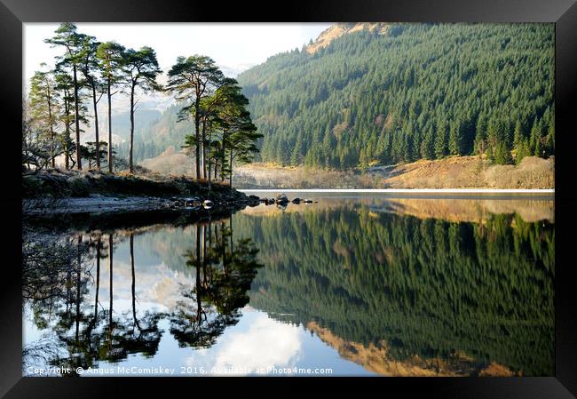
[[496,165],[480,156],[452,156],[365,171],[324,171],[275,164],[238,166],[238,188],[555,188],[555,159],[527,156]]

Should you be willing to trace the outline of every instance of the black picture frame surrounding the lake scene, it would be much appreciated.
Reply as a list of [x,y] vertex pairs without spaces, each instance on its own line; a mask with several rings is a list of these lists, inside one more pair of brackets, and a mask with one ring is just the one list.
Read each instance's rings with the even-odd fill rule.
[[[261,12],[257,14],[257,12]],[[3,144],[14,148],[4,156],[4,193],[0,196],[4,211],[5,254],[2,279],[2,363],[0,363],[0,395],[15,397],[117,397],[127,387],[150,392],[150,387],[170,393],[175,387],[198,392],[202,388],[225,387],[234,392],[250,389],[249,384],[281,382],[284,394],[300,395],[299,384],[284,378],[234,379],[223,384],[220,379],[99,378],[42,379],[22,377],[21,339],[22,308],[20,284],[21,196],[20,166],[15,150],[19,145],[22,90],[22,24],[25,22],[195,22],[195,21],[267,21],[267,22],[331,22],[331,21],[404,21],[404,22],[552,22],[556,27],[556,275],[555,275],[555,377],[543,378],[463,378],[463,379],[314,379],[325,387],[353,387],[368,392],[367,384],[375,384],[376,392],[396,391],[410,395],[423,390],[427,396],[444,398],[575,398],[577,395],[577,304],[574,284],[575,262],[572,260],[572,235],[577,196],[573,190],[573,153],[577,148],[573,119],[577,110],[577,4],[574,0],[317,0],[292,1],[286,4],[250,5],[243,2],[199,2],[177,0],[0,0],[0,76],[2,95],[0,124]],[[5,150],[6,153],[10,151]],[[250,380],[250,382],[249,382]],[[312,379],[307,379],[311,381]],[[298,382],[301,382],[300,379]],[[287,384],[287,382],[289,382]],[[357,383],[363,384],[357,386]],[[378,387],[377,387],[378,386]],[[192,391],[190,389],[193,389]],[[270,392],[269,392],[270,394]],[[274,394],[273,394],[274,395]]]

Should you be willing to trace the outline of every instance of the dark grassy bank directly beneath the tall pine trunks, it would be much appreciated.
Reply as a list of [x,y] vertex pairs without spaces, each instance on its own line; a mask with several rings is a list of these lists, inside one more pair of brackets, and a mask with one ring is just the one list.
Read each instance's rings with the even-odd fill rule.
[[86,196],[202,196],[243,199],[244,194],[219,183],[186,177],[143,177],[96,171],[48,171],[22,174],[23,198],[68,198]]

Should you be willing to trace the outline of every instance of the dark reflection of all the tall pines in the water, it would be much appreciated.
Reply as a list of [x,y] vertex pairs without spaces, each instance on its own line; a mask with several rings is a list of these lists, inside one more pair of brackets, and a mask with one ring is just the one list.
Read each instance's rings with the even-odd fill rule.
[[[186,251],[186,267],[194,267],[196,273],[194,286],[181,284],[181,299],[170,312],[138,312],[134,234],[95,232],[67,239],[23,235],[23,296],[36,327],[44,331],[41,339],[24,348],[24,370],[29,365],[86,370],[98,368],[101,361],[118,363],[131,354],[154,356],[163,318],[170,321],[170,333],[182,347],[209,347],[226,326],[238,322],[240,308],[249,302],[250,283],[262,266],[249,239],[234,243],[233,230],[225,222],[197,225],[193,247]],[[119,314],[114,309],[114,249],[126,235],[131,309]],[[99,303],[102,259],[108,259],[107,308]],[[85,298],[89,288],[94,289],[91,303]]]

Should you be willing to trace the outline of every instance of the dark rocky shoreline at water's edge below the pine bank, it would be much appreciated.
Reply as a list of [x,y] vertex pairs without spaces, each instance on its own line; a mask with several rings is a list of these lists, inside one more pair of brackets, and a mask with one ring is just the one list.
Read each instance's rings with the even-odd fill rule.
[[[154,223],[175,225],[230,217],[247,206],[263,203],[284,209],[288,203],[312,203],[309,199],[288,200],[246,196],[236,190],[217,196],[102,196],[28,198],[22,200],[22,222],[55,230],[91,230],[140,227]],[[316,201],[315,201],[316,202]]]

